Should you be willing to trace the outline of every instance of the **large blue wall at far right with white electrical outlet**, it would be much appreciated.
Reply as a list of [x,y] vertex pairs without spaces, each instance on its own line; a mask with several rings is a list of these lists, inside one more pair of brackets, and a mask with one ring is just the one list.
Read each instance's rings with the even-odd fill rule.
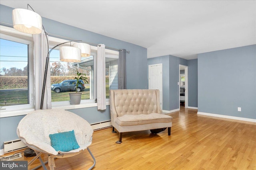
[[198,111],[256,119],[256,45],[198,54]]

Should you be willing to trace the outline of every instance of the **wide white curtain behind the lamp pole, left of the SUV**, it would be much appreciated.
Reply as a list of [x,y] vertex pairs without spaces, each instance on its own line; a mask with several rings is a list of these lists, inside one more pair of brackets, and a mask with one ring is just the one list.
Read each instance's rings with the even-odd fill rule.
[[[41,34],[34,34],[34,77],[35,77],[35,109],[40,109],[40,102],[42,96],[42,86],[44,81],[44,70],[46,64],[46,57],[48,54],[47,39],[44,32]],[[51,96],[51,78],[50,78],[50,62],[48,65],[46,88],[44,92],[43,109],[52,108]]]

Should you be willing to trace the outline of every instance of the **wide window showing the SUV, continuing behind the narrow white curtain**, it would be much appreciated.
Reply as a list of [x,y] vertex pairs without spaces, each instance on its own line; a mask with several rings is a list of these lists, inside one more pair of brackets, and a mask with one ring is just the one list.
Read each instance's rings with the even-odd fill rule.
[[[50,46],[55,46],[58,43],[66,40],[49,37]],[[55,42],[54,42],[55,40]],[[75,88],[67,88],[62,81],[74,80],[76,71],[86,74],[88,83],[84,82],[84,88],[81,88],[82,100],[96,99],[96,57],[97,47],[92,46],[92,54],[90,57],[82,57],[79,63],[67,63],[60,61],[59,50],[54,49],[50,53],[50,71],[51,71],[51,94],[52,102],[69,101],[70,91]],[[109,98],[109,90],[118,88],[118,51],[105,49],[106,51],[106,98]],[[70,83],[70,82],[69,82]],[[54,86],[62,84],[59,89],[55,91]]]

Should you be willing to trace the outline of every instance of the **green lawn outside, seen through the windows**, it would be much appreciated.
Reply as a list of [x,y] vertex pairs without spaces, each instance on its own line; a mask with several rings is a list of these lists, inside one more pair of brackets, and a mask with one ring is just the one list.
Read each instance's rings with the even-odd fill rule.
[[[90,88],[82,90],[81,99],[90,99]],[[52,102],[69,101],[70,92],[56,93],[51,91]],[[106,84],[106,98],[109,98],[109,84]],[[0,90],[0,106],[13,106],[20,104],[28,104],[28,90]]]

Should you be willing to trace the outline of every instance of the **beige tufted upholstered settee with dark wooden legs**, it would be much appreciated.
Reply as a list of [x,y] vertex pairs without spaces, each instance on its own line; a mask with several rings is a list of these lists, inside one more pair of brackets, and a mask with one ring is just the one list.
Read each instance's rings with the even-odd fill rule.
[[168,127],[171,135],[172,117],[162,113],[159,90],[110,90],[111,124],[122,133]]

